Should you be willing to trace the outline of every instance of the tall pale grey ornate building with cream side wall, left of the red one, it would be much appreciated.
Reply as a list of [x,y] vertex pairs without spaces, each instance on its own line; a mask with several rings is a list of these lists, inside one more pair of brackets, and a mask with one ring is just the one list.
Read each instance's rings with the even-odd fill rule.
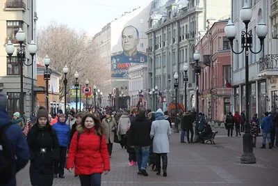
[[[195,72],[193,54],[199,36],[206,30],[206,20],[214,17],[229,16],[230,1],[152,1],[149,18],[148,53],[148,88],[158,86],[161,97],[166,97],[167,104],[173,102],[174,72],[178,72],[179,90],[177,102],[186,104],[187,109],[195,107]],[[183,83],[183,64],[189,64],[187,100]],[[155,102],[149,96],[149,107]]]

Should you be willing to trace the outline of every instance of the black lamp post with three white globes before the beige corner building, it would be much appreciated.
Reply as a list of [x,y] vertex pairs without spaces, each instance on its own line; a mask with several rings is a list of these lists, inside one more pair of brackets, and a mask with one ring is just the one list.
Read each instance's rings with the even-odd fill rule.
[[[24,93],[23,93],[23,65],[31,66],[33,65],[33,58],[30,64],[26,64],[26,52],[25,48],[22,47],[23,43],[25,42],[25,33],[22,31],[22,28],[19,28],[19,31],[17,31],[17,34],[15,35],[15,38],[17,39],[17,42],[19,42],[19,49],[17,49],[17,61],[14,63],[12,60],[13,52],[15,52],[15,46],[13,45],[10,40],[8,40],[8,43],[6,45],[6,52],[9,56],[10,65],[12,66],[18,66],[20,68],[20,99],[19,99],[19,107],[20,107],[20,116],[24,117]],[[37,45],[35,45],[35,42],[33,40],[28,46],[28,52],[33,55],[37,52]],[[32,92],[33,95],[33,92]]]

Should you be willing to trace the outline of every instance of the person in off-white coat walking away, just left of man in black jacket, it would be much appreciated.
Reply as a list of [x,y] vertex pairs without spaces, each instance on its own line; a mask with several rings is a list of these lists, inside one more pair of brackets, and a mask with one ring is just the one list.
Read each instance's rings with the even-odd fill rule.
[[117,127],[117,132],[121,135],[120,145],[122,146],[122,148],[126,148],[125,135],[129,124],[131,124],[131,121],[129,120],[129,114],[127,114],[127,112],[124,111],[124,113],[119,119],[119,125]]

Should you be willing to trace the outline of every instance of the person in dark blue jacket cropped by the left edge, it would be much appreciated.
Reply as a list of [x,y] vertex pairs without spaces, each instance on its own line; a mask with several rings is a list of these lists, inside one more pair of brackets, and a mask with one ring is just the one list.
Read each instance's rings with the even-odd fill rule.
[[[10,123],[10,118],[6,111],[6,104],[7,95],[0,93],[0,127],[5,127]],[[4,173],[1,173],[0,186],[15,186],[17,185],[15,173],[23,169],[28,163],[29,149],[22,129],[18,125],[10,125],[10,127],[6,129],[6,137],[11,154],[10,162],[12,162],[14,167],[11,171],[6,171],[6,173],[9,172],[7,173],[8,175],[3,175]],[[4,178],[7,178],[7,183],[3,183],[5,181]]]

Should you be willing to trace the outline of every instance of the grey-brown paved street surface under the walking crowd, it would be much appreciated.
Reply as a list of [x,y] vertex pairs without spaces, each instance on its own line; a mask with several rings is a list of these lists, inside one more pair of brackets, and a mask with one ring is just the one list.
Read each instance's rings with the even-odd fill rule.
[[[224,129],[217,130],[216,145],[181,144],[179,134],[170,139],[168,176],[156,176],[149,168],[148,177],[138,176],[137,168],[128,165],[126,150],[115,144],[111,158],[111,172],[102,176],[103,186],[147,185],[267,185],[278,183],[278,148],[261,149],[259,137],[254,148],[256,164],[240,164],[242,137],[227,137]],[[28,166],[17,173],[17,185],[29,186]],[[79,178],[65,170],[65,179],[55,179],[56,186],[80,185]]]

